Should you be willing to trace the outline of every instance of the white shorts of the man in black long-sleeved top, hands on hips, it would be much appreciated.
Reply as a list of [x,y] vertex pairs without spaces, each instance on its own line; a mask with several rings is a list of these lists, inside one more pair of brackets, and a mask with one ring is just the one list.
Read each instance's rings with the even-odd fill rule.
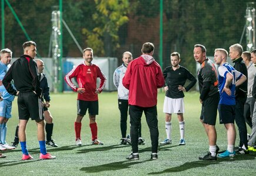
[[184,101],[181,99],[171,99],[167,96],[164,98],[164,113],[177,114],[184,113]]

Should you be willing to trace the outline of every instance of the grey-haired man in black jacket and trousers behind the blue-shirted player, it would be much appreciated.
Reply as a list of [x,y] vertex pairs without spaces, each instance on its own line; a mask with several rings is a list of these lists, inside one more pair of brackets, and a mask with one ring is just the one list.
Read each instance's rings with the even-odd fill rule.
[[[230,46],[230,59],[234,63],[234,69],[247,77],[247,67],[242,61],[242,46],[238,43]],[[247,80],[235,87],[235,123],[237,123],[240,144],[235,149],[236,154],[247,154],[247,127],[244,119],[244,103],[247,99]]]

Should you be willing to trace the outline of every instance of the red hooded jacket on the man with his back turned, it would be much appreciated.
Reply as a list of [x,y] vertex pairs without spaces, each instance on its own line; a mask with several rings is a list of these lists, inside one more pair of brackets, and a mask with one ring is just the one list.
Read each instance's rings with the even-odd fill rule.
[[128,103],[140,107],[157,105],[157,89],[164,86],[161,67],[150,55],[129,63],[122,84],[129,89]]

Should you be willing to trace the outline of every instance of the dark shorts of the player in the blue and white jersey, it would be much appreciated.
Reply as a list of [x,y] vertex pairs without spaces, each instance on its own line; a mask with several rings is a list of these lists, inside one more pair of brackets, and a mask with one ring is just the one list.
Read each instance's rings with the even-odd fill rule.
[[235,122],[235,105],[219,104],[220,124]]

